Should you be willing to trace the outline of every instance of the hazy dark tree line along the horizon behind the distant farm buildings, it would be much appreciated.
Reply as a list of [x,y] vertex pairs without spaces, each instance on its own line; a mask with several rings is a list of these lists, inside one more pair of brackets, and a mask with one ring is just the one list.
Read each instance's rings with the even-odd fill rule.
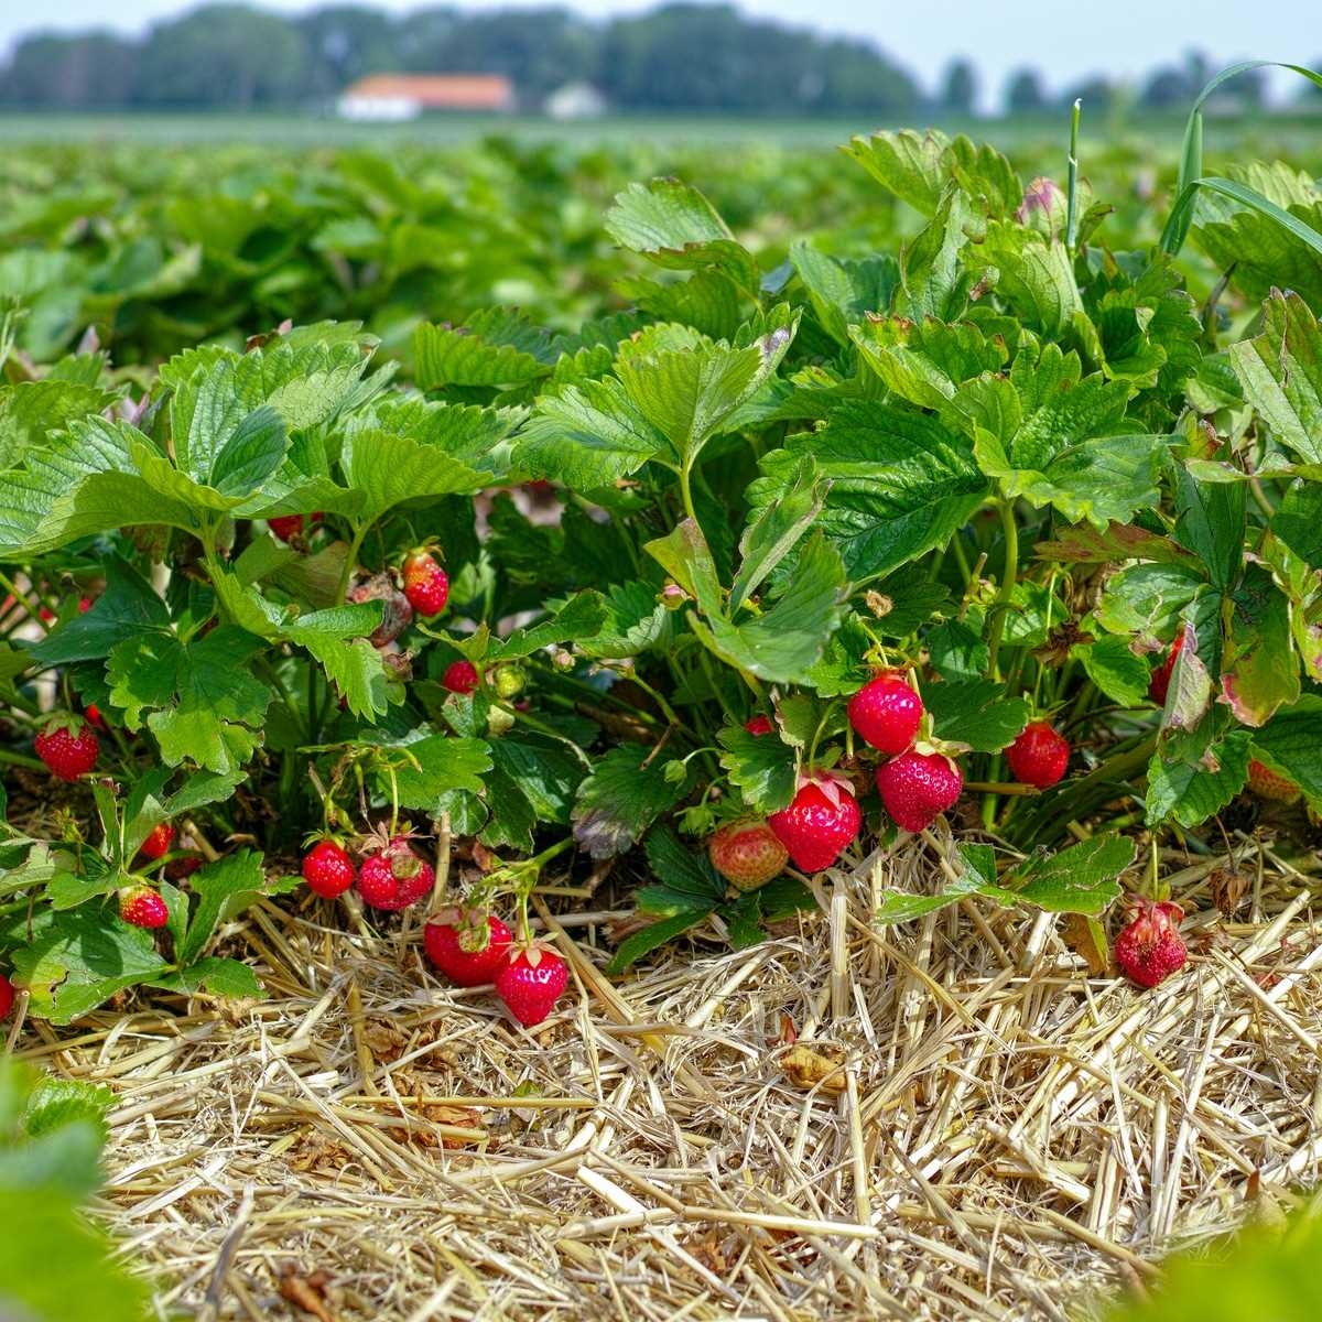
[[[1187,104],[1210,66],[1190,56],[1155,70],[1138,93],[1151,107]],[[935,89],[869,41],[816,36],[752,19],[732,5],[665,4],[594,22],[566,9],[465,13],[428,8],[395,17],[369,5],[330,5],[286,17],[212,4],[132,40],[110,32],[41,33],[0,67],[0,104],[30,108],[278,108],[324,103],[370,73],[497,73],[525,108],[571,82],[598,87],[619,110],[833,114],[973,114],[974,66],[953,61]],[[1263,81],[1233,94],[1260,102]],[[1014,73],[1001,106],[1047,111],[1120,89],[1095,78],[1050,91],[1034,69]]]

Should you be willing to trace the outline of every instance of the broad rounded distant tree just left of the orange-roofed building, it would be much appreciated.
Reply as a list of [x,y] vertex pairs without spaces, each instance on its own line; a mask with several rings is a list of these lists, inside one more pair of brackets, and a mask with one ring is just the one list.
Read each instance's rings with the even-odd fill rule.
[[308,94],[308,49],[276,15],[217,4],[147,36],[135,99],[148,106],[291,104]]

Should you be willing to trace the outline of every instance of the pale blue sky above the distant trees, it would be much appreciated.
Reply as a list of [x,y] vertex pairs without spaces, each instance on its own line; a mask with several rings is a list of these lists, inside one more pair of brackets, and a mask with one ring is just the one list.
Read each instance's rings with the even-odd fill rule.
[[[405,12],[416,0],[368,0]],[[463,3],[463,0],[460,0]],[[266,0],[284,12],[315,0]],[[467,0],[464,8],[501,9],[508,0]],[[653,7],[653,0],[571,0],[582,13],[604,16]],[[1006,74],[1023,63],[1046,70],[1054,87],[1104,70],[1138,77],[1178,59],[1188,33],[1215,63],[1240,58],[1313,63],[1322,58],[1318,0],[743,0],[750,13],[825,32],[870,37],[917,70],[931,86],[952,56],[973,56],[985,91],[998,94]],[[0,49],[33,28],[93,25],[140,32],[155,19],[189,8],[181,0],[58,0],[40,8],[0,0]],[[1277,86],[1282,86],[1277,83]],[[1293,90],[1284,83],[1286,90]]]

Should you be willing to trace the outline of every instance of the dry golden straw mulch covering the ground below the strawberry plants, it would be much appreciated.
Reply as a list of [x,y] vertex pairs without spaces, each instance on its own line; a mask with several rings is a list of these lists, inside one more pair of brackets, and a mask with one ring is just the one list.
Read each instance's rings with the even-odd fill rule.
[[99,1211],[163,1318],[1088,1317],[1318,1179],[1322,925],[1228,843],[1165,855],[1192,957],[1151,993],[1047,915],[871,929],[882,887],[936,884],[919,842],[615,986],[620,915],[550,919],[574,976],[531,1032],[440,985],[416,920],[311,902],[226,935],[270,1001],[20,1047],[118,1092]]

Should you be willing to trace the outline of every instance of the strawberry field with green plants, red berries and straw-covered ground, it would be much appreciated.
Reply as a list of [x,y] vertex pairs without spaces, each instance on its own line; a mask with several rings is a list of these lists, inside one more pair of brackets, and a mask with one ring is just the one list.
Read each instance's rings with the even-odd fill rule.
[[1322,185],[1206,130],[7,152],[16,1298],[1101,1317],[1310,1198]]

